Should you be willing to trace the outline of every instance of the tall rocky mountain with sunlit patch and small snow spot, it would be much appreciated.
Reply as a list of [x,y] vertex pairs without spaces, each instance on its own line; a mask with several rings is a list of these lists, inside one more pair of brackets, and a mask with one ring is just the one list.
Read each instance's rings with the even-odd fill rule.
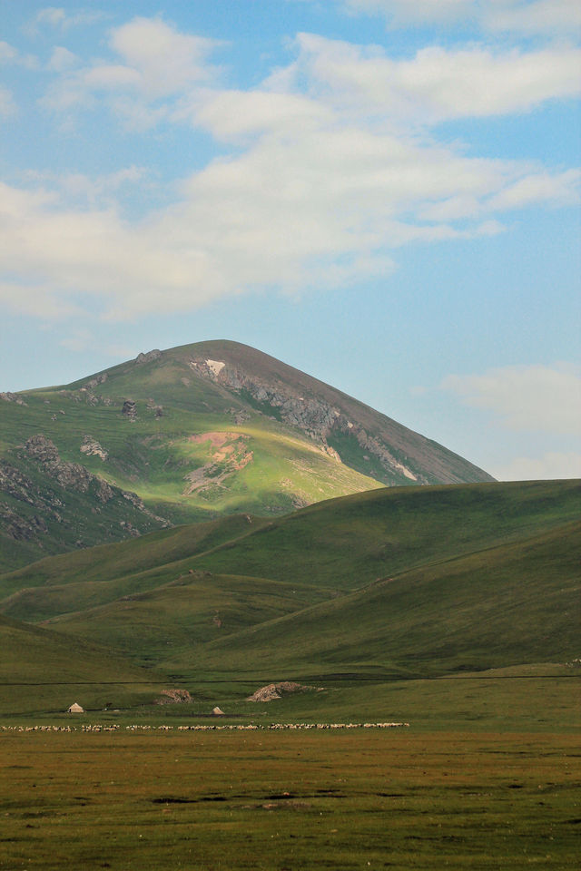
[[279,360],[228,341],[153,350],[0,394],[5,569],[225,514],[489,475]]

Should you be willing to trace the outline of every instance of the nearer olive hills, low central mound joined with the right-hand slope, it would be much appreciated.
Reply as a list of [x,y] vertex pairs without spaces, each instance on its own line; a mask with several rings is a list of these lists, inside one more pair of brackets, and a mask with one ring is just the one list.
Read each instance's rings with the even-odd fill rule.
[[566,524],[315,605],[317,591],[298,583],[200,573],[48,625],[190,679],[201,669],[319,680],[564,661],[577,651],[579,533]]

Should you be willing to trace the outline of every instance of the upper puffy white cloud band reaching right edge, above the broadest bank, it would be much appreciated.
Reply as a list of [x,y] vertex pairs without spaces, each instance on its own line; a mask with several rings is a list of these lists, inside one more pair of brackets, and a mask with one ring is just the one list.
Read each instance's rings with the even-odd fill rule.
[[[197,119],[225,138],[276,125],[320,122],[322,113],[343,119],[426,127],[466,117],[527,112],[547,100],[581,93],[581,50],[570,45],[536,51],[492,51],[432,46],[394,60],[377,46],[360,46],[299,34],[293,64],[250,92],[204,93],[216,76],[207,63],[212,40],[181,34],[161,19],[134,18],[113,30],[111,63],[95,62],[65,73],[44,98],[57,111],[107,97],[123,115],[133,100],[143,110],[179,121]],[[59,55],[57,62],[69,58]],[[304,93],[306,90],[306,93]],[[119,98],[122,98],[121,102]],[[143,126],[143,119],[141,122]]]

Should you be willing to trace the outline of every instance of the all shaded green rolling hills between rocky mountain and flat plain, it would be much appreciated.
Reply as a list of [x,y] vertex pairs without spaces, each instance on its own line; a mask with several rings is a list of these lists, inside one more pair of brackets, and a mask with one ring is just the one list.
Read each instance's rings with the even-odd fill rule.
[[384,488],[0,576],[0,612],[175,680],[427,677],[578,656],[579,482]]

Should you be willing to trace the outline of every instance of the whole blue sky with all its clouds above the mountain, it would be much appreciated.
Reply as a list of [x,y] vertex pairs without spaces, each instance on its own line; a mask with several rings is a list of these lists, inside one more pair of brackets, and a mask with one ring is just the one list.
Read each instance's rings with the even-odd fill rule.
[[0,0],[0,390],[229,338],[581,477],[581,6]]

